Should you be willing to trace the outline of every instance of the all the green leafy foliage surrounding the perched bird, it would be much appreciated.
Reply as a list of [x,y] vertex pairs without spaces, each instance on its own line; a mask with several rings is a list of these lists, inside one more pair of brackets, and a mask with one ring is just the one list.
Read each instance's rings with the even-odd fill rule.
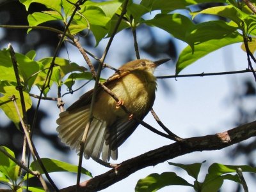
[[[20,3],[26,6],[26,10],[29,10],[32,3],[44,4],[47,8],[44,11],[28,15],[28,33],[34,30],[36,26],[40,29],[49,22],[60,22],[63,27],[67,27],[67,33],[64,34],[61,31],[61,35],[65,36],[64,40],[70,40],[73,43],[76,41],[74,36],[77,33],[84,32],[93,34],[95,46],[99,45],[104,38],[109,38],[115,31],[118,18],[124,8],[124,1],[85,1],[74,12],[77,2],[81,3],[83,1],[20,0]],[[191,11],[191,6],[198,6],[202,3],[223,3],[223,5],[202,11]],[[177,10],[182,11],[178,13]],[[154,15],[154,13],[156,14]],[[150,14],[154,17],[148,18]],[[195,19],[202,14],[215,15],[223,19],[196,23]],[[117,31],[135,30],[140,26],[158,27],[170,33],[174,38],[188,43],[188,47],[182,50],[177,60],[176,75],[214,50],[243,42],[244,38],[248,36],[252,36],[250,37],[252,42],[249,43],[249,48],[252,52],[255,50],[253,36],[256,34],[254,30],[256,17],[241,1],[142,0],[140,3],[129,1],[127,11],[125,11],[124,18],[122,18]],[[48,30],[56,32],[56,29],[51,27]],[[9,48],[0,50],[0,108],[9,119],[15,122],[17,127],[19,127],[20,122],[19,112],[22,112],[22,96],[17,90],[18,87],[22,87],[25,109],[28,110],[32,106],[29,93],[34,87],[42,91],[44,96],[47,96],[53,84],[58,87],[65,85],[68,89],[72,89],[76,80],[92,80],[93,78],[92,73],[86,71],[84,66],[79,66],[67,59],[46,57],[35,61],[36,52],[31,50],[27,54],[15,53],[21,81],[21,85],[18,85],[11,56]],[[102,81],[104,80],[102,79]],[[18,109],[15,108],[13,101],[10,99],[13,95],[17,99]],[[24,114],[20,114],[23,117]],[[3,147],[3,149],[15,158],[10,149],[6,147]],[[77,169],[77,166],[54,159],[41,159],[41,161],[47,167],[47,172],[76,172]],[[202,163],[192,165],[170,163],[170,165],[179,166],[186,170],[195,179],[194,184],[189,184],[173,172],[166,172],[161,175],[152,174],[145,179],[141,179],[136,186],[136,191],[156,191],[159,188],[173,184],[191,186],[196,191],[218,191],[225,179],[240,182],[237,175],[230,174],[236,172],[236,168],[242,167],[245,172],[255,172],[255,169],[249,166],[228,166],[215,163],[209,167],[205,181],[198,182],[197,176]],[[32,163],[30,168],[43,174],[40,166],[36,166],[36,162]],[[0,152],[0,181],[17,191],[22,188],[22,183],[26,180],[26,176],[22,178],[18,170],[19,166]],[[84,169],[81,173],[91,176]],[[32,175],[29,175],[29,177],[32,177]],[[19,180],[20,182],[17,182]],[[32,187],[29,187],[29,190],[40,191],[40,189]]]

